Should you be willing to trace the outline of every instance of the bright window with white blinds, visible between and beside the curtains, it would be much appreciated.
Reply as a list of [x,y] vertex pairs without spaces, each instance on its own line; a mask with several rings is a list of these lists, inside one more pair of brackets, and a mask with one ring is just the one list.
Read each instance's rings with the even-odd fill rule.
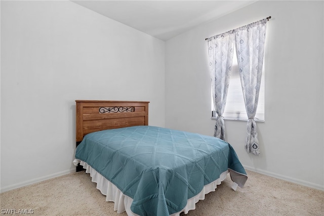
[[[233,54],[233,65],[231,70],[231,77],[229,81],[227,100],[224,111],[224,119],[231,120],[248,120],[247,112],[245,109],[244,97],[242,93],[241,81],[239,78],[236,51]],[[216,118],[217,114],[212,100],[212,118]],[[262,68],[262,78],[259,93],[259,102],[257,113],[255,115],[256,121],[264,121],[264,61]]]

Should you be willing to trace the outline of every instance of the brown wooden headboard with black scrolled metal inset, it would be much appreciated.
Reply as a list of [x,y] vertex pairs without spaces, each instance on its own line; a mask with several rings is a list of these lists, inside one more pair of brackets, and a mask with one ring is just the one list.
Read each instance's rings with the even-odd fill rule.
[[91,132],[148,125],[148,101],[75,100],[76,142]]

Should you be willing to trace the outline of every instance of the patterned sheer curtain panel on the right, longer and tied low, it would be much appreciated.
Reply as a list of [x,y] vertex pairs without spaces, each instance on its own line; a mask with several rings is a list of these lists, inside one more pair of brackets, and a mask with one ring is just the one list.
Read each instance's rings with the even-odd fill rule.
[[267,19],[235,29],[235,46],[242,92],[248,114],[245,149],[260,154],[255,114],[258,107],[262,76]]

